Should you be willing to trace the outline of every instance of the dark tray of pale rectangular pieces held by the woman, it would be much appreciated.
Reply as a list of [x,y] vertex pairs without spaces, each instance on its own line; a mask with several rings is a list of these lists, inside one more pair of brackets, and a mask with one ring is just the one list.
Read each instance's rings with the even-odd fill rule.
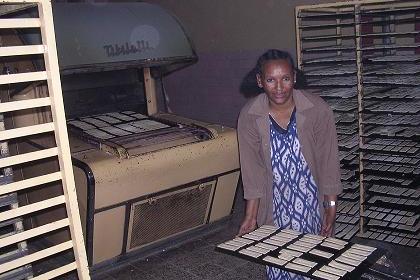
[[216,250],[313,279],[358,279],[381,255],[374,247],[264,225]]

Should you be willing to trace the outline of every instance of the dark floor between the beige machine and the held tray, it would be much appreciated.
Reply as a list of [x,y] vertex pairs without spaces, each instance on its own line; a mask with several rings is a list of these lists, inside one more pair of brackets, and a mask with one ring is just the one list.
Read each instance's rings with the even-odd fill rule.
[[155,256],[129,261],[126,265],[95,273],[93,279],[183,279],[245,280],[264,279],[264,267],[214,250],[215,245],[232,238],[235,226],[199,238],[179,248]]

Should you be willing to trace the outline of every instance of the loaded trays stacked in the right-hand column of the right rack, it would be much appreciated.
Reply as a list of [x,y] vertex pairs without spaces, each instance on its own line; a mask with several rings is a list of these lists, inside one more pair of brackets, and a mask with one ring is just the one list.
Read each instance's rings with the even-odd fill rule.
[[359,236],[419,247],[420,67],[418,56],[404,60],[399,52],[369,59],[363,73],[366,195]]

